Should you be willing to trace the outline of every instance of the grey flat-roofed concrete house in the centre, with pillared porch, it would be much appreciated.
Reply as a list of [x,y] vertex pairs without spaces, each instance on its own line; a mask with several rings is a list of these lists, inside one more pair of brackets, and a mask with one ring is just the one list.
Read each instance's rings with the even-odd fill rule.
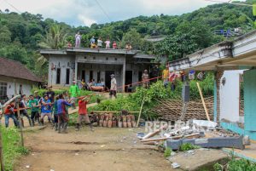
[[126,84],[141,81],[145,69],[151,71],[155,56],[137,54],[137,50],[103,48],[44,49],[40,51],[49,60],[48,85],[69,86],[73,80],[88,83],[104,82],[110,88],[114,74],[120,90]]

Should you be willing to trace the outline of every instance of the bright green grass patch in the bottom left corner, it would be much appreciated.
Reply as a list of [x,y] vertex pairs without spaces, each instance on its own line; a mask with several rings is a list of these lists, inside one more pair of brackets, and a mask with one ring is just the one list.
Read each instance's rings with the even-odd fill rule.
[[20,145],[20,133],[16,128],[1,127],[3,136],[3,159],[6,171],[14,168],[15,159],[28,154],[26,147]]

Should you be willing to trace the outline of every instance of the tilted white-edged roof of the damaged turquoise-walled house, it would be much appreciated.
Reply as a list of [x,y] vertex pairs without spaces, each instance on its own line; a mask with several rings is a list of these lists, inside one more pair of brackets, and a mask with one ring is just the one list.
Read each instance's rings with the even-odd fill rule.
[[240,70],[256,66],[256,31],[170,62],[169,70]]

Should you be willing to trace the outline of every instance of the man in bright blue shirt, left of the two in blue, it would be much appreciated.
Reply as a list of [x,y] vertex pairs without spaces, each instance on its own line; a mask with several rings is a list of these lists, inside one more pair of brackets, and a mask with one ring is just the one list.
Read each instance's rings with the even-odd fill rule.
[[44,117],[47,116],[50,121],[53,122],[51,117],[52,103],[50,102],[47,95],[44,95],[41,100],[41,123],[44,124]]

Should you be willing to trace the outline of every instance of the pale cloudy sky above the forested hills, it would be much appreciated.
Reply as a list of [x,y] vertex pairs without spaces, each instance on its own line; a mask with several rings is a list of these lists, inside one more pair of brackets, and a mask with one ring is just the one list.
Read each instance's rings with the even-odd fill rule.
[[138,15],[184,14],[208,4],[212,3],[205,0],[0,0],[0,9],[43,14],[44,19],[52,18],[72,26],[90,26]]

